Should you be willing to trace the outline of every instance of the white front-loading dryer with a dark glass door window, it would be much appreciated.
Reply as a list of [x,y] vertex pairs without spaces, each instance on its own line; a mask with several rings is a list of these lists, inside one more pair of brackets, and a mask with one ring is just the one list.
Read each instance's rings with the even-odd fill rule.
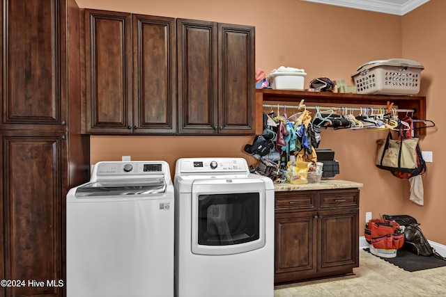
[[175,294],[274,296],[274,185],[243,158],[176,162]]

